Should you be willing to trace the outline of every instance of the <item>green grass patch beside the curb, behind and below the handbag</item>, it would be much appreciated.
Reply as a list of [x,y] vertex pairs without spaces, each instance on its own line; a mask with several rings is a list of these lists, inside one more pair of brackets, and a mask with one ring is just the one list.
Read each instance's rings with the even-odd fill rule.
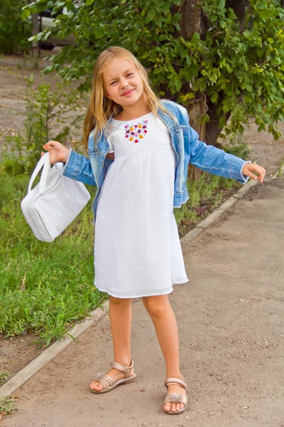
[[48,345],[107,295],[93,285],[90,202],[53,243],[38,241],[21,212],[28,181],[0,174],[0,333],[35,331]]

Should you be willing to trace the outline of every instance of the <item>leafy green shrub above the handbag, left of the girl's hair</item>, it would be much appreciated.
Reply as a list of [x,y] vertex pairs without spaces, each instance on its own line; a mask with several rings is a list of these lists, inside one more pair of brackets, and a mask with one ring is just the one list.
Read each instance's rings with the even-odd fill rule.
[[[4,156],[0,169],[10,174],[31,173],[40,159],[43,144],[51,139],[65,144],[68,138],[72,139],[72,127],[76,127],[82,119],[81,112],[70,122],[68,114],[81,107],[81,97],[70,88],[70,84],[56,83],[56,88],[52,90],[50,83],[43,82],[35,90],[33,74],[25,80],[26,110],[21,113],[26,117],[23,131],[4,138]],[[67,122],[69,125],[66,125]],[[64,125],[60,132],[59,124]]]

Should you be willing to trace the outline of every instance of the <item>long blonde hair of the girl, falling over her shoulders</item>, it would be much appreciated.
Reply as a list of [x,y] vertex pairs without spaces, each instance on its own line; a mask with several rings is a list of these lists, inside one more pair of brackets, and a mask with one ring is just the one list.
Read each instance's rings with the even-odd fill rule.
[[148,102],[148,106],[151,108],[153,114],[156,116],[159,108],[166,114],[172,116],[172,114],[165,109],[155,93],[153,93],[153,90],[148,83],[147,71],[138,59],[136,59],[135,56],[125,48],[121,48],[119,46],[108,48],[99,55],[99,58],[97,58],[93,68],[92,93],[89,99],[87,115],[84,118],[84,135],[81,141],[85,152],[88,152],[90,132],[94,129],[94,140],[102,137],[102,133],[107,133],[110,130],[108,120],[111,115],[116,117],[116,115],[121,112],[121,106],[116,104],[113,100],[110,100],[104,93],[104,81],[102,74],[104,69],[112,60],[114,60],[114,58],[131,60],[134,63],[138,73],[141,75],[146,101]]

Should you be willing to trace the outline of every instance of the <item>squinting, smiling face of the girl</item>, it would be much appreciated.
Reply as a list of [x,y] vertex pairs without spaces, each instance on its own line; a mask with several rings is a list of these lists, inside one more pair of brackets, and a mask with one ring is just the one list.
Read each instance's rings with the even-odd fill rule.
[[122,108],[142,99],[143,81],[131,60],[114,58],[104,69],[102,77],[107,97]]

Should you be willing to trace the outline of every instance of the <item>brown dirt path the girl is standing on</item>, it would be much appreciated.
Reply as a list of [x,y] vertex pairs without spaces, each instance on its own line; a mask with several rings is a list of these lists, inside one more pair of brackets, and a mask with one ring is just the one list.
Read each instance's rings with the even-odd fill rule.
[[180,359],[190,409],[163,413],[165,375],[155,331],[133,302],[138,380],[94,395],[89,383],[112,359],[102,317],[16,391],[5,427],[284,426],[284,179],[253,186],[185,248],[190,283],[175,285]]

